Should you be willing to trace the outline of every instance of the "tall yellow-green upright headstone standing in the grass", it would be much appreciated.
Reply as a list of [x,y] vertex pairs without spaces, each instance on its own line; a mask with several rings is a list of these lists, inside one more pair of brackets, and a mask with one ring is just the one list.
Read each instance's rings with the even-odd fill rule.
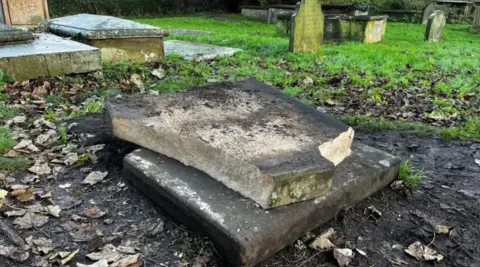
[[319,0],[302,0],[292,16],[291,52],[319,53],[323,41],[323,12]]

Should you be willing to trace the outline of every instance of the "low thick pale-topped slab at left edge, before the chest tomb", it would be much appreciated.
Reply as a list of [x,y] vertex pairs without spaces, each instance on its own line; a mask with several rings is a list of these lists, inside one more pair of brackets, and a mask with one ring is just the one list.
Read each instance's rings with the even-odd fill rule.
[[31,43],[0,46],[0,69],[15,80],[85,73],[101,68],[97,48],[52,34],[38,34]]

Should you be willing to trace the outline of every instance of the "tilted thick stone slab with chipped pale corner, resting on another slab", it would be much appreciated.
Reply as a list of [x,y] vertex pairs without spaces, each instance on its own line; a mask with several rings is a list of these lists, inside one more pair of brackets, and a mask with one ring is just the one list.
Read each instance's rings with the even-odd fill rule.
[[325,195],[353,130],[255,79],[107,102],[117,137],[202,170],[264,208]]

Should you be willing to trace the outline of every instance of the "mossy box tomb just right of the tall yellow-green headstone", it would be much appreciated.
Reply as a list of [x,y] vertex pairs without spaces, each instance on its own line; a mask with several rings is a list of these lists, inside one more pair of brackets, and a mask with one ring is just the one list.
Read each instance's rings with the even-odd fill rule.
[[383,41],[388,16],[326,16],[327,41],[358,41],[366,44]]

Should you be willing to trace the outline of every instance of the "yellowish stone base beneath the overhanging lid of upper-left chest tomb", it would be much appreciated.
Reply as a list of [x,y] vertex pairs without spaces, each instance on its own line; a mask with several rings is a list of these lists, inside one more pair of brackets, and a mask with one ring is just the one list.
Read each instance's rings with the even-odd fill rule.
[[102,60],[108,62],[156,62],[164,57],[162,37],[88,40],[86,43],[99,48]]

